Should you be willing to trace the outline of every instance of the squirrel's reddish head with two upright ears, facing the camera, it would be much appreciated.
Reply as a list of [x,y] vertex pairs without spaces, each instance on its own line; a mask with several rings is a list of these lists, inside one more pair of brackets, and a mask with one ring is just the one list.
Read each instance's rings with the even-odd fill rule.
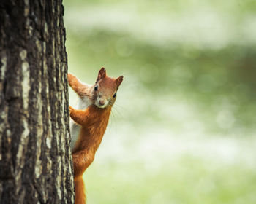
[[106,69],[102,67],[92,90],[94,105],[101,109],[113,106],[116,101],[116,92],[123,78],[124,76],[116,79],[107,76]]

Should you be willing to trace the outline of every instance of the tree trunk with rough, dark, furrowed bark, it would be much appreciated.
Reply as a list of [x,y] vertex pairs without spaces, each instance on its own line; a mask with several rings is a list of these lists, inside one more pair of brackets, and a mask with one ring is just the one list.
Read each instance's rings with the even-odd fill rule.
[[63,15],[0,1],[0,203],[74,203]]

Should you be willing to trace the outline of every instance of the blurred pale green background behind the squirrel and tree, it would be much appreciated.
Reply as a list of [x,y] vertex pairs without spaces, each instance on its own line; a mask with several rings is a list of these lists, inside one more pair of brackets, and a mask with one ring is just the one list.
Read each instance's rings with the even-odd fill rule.
[[88,203],[255,204],[256,1],[64,6],[69,72],[124,74]]

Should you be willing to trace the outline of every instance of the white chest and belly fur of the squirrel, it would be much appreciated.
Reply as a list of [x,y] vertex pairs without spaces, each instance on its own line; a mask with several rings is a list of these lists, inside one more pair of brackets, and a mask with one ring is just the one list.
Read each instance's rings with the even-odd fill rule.
[[[90,105],[91,105],[91,101],[89,100],[89,98],[87,98],[87,97],[78,98],[77,109],[83,110],[83,109],[86,109]],[[73,151],[73,149],[75,147],[75,142],[78,140],[78,136],[80,133],[80,125],[78,125],[78,123],[74,122],[74,120],[72,120],[71,118],[70,118],[70,133],[71,133],[71,149]]]

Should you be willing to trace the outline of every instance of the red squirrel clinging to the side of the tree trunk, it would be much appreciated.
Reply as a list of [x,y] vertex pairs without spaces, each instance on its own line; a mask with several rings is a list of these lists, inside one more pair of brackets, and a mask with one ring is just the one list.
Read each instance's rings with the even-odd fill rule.
[[78,94],[78,109],[69,106],[71,117],[71,147],[75,180],[75,204],[86,203],[83,173],[94,160],[102,137],[108,125],[108,119],[116,92],[123,81],[107,76],[105,68],[99,70],[94,85],[87,85],[68,74],[69,86]]

